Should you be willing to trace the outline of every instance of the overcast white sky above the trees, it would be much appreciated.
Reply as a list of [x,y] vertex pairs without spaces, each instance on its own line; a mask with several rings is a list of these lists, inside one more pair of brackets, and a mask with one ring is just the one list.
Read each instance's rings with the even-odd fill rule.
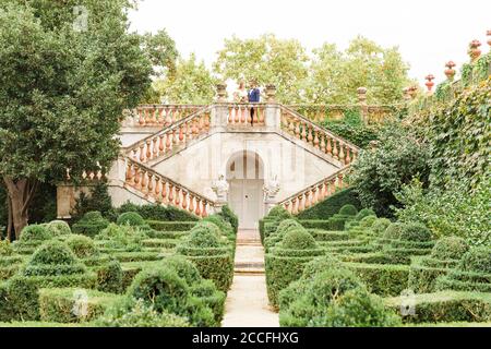
[[475,38],[489,51],[490,13],[489,0],[143,0],[130,19],[140,33],[166,28],[183,57],[195,52],[208,67],[233,34],[273,33],[309,50],[326,41],[346,48],[361,34],[398,46],[411,77],[423,83],[428,73],[443,80],[448,60],[467,62]]

